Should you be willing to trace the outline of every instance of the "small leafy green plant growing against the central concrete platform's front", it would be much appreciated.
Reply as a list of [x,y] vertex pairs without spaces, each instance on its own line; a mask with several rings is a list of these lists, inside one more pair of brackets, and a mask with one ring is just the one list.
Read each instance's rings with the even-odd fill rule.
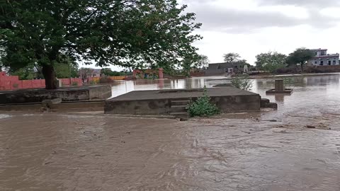
[[209,117],[217,115],[220,110],[217,106],[210,102],[210,97],[207,95],[207,88],[204,87],[203,97],[197,98],[188,104],[188,113],[190,117]]

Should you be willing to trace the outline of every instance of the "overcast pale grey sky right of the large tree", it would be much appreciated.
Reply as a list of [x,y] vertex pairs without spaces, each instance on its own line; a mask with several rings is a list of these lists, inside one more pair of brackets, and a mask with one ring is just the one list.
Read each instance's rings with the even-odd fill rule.
[[[340,52],[340,0],[179,0],[196,13],[203,40],[195,45],[210,62],[237,52],[254,64],[256,54],[284,54],[297,47]],[[115,67],[113,67],[115,69]]]

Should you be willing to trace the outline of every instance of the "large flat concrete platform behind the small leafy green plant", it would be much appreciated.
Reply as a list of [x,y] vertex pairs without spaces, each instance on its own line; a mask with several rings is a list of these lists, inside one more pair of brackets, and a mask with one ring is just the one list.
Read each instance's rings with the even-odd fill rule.
[[[222,112],[259,111],[261,96],[234,87],[208,88],[208,96]],[[106,100],[106,114],[169,115],[175,100],[186,101],[203,96],[200,89],[132,91]]]

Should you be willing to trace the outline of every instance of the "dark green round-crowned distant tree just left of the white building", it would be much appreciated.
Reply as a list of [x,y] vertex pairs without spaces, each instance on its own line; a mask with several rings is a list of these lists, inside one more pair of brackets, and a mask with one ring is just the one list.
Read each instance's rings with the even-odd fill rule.
[[300,64],[301,70],[303,71],[303,66],[308,62],[308,60],[312,59],[312,57],[314,57],[314,52],[306,49],[305,47],[301,47],[289,54],[287,63],[290,66]]

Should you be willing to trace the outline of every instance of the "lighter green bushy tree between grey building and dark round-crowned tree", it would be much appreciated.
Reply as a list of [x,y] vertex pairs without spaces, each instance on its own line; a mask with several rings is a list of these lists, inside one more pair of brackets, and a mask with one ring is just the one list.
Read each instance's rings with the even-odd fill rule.
[[287,56],[278,52],[267,52],[256,55],[256,67],[261,70],[275,73],[278,69],[284,68]]

